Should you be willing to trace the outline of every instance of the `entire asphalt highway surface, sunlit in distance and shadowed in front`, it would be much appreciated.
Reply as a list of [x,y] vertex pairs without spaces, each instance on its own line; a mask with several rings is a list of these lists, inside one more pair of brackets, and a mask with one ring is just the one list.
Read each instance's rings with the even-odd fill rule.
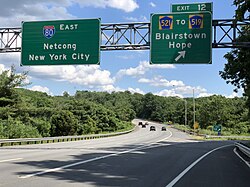
[[109,138],[1,147],[0,187],[249,186],[250,168],[232,141],[197,141],[149,126]]

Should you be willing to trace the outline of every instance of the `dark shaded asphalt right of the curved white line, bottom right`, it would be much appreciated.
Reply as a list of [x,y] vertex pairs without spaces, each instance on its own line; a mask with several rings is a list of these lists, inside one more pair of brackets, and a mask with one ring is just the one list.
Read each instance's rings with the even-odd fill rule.
[[250,169],[227,146],[205,157],[176,183],[175,187],[249,187]]

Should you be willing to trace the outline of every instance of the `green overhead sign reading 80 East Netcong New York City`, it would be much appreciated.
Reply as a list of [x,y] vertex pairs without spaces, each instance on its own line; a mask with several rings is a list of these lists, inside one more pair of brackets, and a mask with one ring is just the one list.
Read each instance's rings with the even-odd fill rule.
[[21,65],[100,63],[100,19],[23,22]]

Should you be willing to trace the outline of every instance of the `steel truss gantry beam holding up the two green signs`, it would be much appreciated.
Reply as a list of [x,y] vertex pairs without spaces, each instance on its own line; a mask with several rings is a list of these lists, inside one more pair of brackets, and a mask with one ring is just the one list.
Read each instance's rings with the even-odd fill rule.
[[[213,20],[213,48],[250,47],[250,42],[238,42],[241,27],[250,20]],[[21,52],[21,28],[0,28],[0,53]],[[101,50],[150,49],[150,23],[101,24]]]

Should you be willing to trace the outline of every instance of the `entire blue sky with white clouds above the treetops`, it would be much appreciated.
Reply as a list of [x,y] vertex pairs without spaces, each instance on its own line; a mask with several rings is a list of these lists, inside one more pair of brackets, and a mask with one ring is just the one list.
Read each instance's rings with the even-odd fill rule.
[[[101,18],[105,23],[150,22],[152,13],[170,13],[171,4],[212,2],[213,19],[232,19],[233,0],[1,0],[0,27],[21,27],[22,21]],[[25,88],[49,95],[77,90],[130,91],[181,98],[223,95],[241,97],[219,71],[230,49],[212,49],[212,64],[150,65],[150,51],[101,51],[100,65],[20,66],[21,53],[0,53],[0,72],[15,65],[28,71]]]

